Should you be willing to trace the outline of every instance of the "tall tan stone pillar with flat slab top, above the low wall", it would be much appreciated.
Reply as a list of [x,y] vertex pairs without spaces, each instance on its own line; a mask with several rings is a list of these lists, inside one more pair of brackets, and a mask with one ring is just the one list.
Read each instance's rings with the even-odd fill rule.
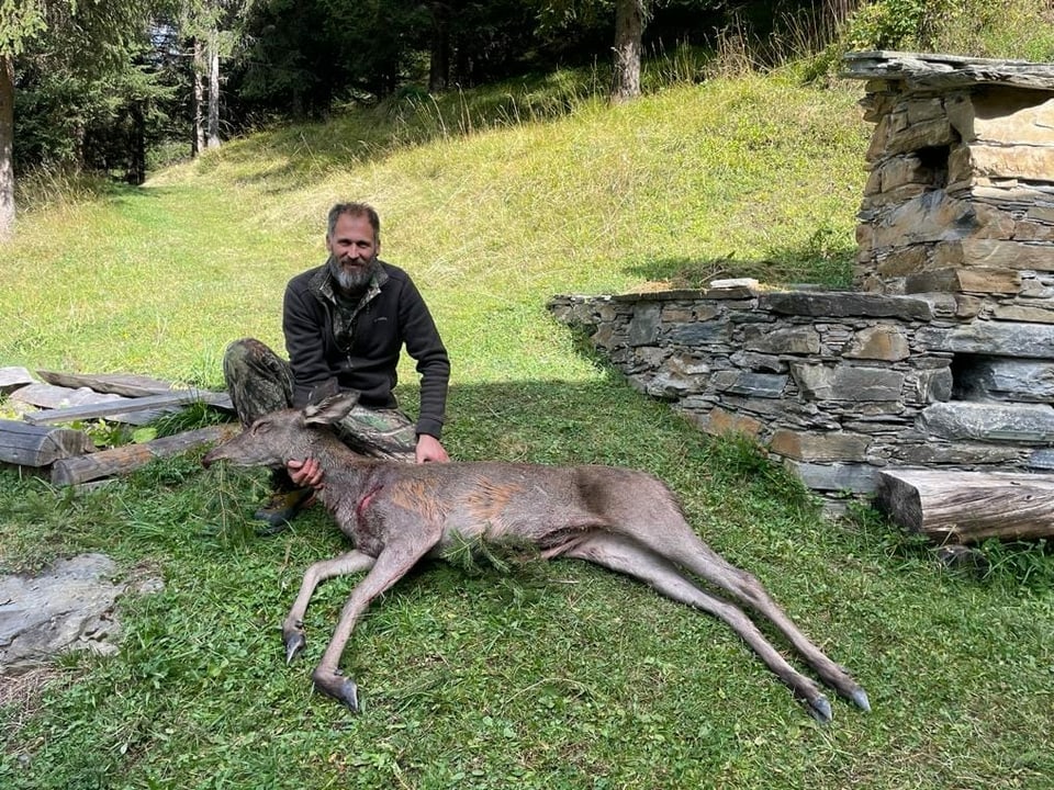
[[856,283],[958,294],[963,318],[1054,323],[1054,68],[853,53],[875,124]]

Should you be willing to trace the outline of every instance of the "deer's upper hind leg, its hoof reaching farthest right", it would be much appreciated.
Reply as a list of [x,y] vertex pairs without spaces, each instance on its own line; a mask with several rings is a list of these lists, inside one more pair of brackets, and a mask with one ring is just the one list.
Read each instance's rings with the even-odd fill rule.
[[632,538],[674,565],[695,574],[725,591],[737,603],[750,607],[767,618],[820,678],[845,699],[865,711],[871,710],[867,692],[806,636],[783,608],[773,600],[753,575],[725,560],[699,539],[677,517],[668,527],[635,530]]

